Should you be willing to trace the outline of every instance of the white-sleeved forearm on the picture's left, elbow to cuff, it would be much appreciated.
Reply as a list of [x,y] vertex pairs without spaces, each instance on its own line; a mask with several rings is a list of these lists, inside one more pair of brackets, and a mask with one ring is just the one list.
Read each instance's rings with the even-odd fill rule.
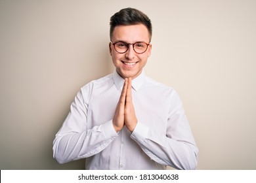
[[116,137],[112,121],[81,133],[60,131],[53,142],[53,157],[58,163],[87,158],[104,150]]

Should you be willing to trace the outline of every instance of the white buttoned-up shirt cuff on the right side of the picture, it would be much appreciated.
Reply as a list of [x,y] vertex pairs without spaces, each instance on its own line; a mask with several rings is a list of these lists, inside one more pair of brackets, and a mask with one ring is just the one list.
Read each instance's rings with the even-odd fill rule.
[[133,133],[131,133],[131,139],[137,142],[143,142],[148,136],[149,127],[140,122],[137,123]]

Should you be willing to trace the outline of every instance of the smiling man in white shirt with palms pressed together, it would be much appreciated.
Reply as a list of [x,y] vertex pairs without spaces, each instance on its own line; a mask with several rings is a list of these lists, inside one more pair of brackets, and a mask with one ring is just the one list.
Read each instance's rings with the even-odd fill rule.
[[59,163],[86,158],[86,169],[195,169],[198,148],[181,100],[148,78],[152,25],[125,8],[110,19],[113,74],[83,86],[53,142]]

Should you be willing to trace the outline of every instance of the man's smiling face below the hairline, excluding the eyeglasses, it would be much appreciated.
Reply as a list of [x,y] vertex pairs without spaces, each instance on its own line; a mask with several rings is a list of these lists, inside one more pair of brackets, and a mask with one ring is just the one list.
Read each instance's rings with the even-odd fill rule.
[[[137,25],[118,25],[112,33],[112,42],[123,41],[127,43],[146,42],[149,43],[150,36],[148,29],[143,24]],[[152,45],[143,54],[137,54],[133,50],[133,45],[129,45],[127,52],[119,54],[114,45],[110,42],[110,55],[116,67],[117,73],[122,78],[136,78],[142,72],[146,61],[151,54]]]

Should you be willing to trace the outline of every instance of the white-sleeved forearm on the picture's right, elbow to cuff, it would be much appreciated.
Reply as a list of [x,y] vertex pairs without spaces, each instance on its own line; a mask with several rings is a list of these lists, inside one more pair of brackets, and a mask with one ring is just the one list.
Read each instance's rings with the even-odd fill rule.
[[192,141],[177,141],[138,123],[131,138],[154,161],[175,169],[196,169],[198,148]]

